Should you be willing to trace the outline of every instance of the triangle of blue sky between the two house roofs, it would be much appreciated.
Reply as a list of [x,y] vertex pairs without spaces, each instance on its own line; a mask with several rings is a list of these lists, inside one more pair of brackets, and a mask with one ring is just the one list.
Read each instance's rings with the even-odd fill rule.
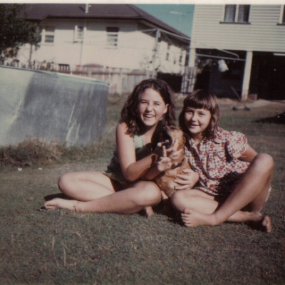
[[160,21],[191,36],[194,5],[191,4],[136,4]]

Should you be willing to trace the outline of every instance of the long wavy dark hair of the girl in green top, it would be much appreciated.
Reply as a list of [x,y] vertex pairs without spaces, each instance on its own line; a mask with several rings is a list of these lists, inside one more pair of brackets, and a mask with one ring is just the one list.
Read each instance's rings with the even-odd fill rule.
[[172,100],[172,92],[170,87],[158,79],[146,79],[135,86],[133,93],[131,93],[121,110],[121,118],[119,123],[125,123],[127,125],[128,134],[140,133],[143,128],[142,122],[138,115],[138,103],[140,102],[140,95],[147,89],[160,93],[165,104],[168,104],[167,113],[163,117],[163,121],[166,125],[175,125],[175,104]]

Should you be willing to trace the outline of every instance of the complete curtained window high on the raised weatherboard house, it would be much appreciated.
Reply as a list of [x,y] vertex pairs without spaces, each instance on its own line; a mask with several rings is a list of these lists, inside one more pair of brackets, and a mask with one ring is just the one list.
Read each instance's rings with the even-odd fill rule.
[[224,21],[227,23],[248,23],[250,5],[226,5]]

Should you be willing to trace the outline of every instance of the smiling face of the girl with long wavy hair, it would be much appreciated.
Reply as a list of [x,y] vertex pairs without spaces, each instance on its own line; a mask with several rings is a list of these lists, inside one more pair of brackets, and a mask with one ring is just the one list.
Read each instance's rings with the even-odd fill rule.
[[167,104],[165,104],[160,93],[152,88],[147,88],[140,95],[138,113],[140,120],[146,127],[156,126],[162,116],[167,113]]

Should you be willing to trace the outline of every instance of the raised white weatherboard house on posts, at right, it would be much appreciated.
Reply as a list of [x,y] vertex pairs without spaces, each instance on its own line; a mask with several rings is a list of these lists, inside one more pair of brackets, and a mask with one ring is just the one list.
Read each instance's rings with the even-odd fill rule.
[[192,89],[284,100],[284,5],[195,5],[190,67]]

